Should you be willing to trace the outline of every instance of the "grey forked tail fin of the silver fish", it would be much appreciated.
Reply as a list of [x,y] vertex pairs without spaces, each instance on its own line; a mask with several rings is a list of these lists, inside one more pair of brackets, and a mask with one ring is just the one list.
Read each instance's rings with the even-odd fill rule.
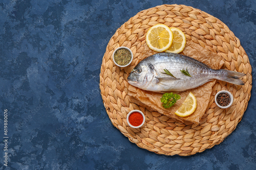
[[217,71],[219,73],[218,73],[218,76],[216,79],[225,81],[225,82],[229,82],[232,84],[244,85],[244,82],[242,80],[240,80],[239,78],[246,76],[246,74],[236,72],[236,71],[224,70],[224,69],[220,69]]

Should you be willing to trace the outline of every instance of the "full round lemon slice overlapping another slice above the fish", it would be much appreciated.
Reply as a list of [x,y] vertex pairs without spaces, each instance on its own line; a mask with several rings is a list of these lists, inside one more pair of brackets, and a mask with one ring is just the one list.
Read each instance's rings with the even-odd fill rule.
[[168,26],[156,24],[147,31],[146,42],[150,49],[162,52],[172,44],[173,33]]

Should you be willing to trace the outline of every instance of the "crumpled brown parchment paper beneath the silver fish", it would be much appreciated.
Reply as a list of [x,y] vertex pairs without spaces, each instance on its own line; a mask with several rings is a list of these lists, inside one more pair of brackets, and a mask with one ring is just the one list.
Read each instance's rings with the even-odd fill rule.
[[[151,50],[147,44],[144,44],[144,50],[139,56],[139,61],[144,58],[156,54],[156,51]],[[184,50],[180,53],[189,57],[192,57],[198,61],[201,61],[213,69],[220,69],[224,64],[224,60],[218,54],[208,51],[201,47],[199,44],[193,43],[192,41],[187,41]],[[135,66],[134,66],[135,67]],[[190,121],[199,124],[201,117],[204,115],[212,92],[212,86],[215,84],[216,80],[211,80],[197,88],[188,89],[183,92],[174,92],[180,95],[180,99],[170,108],[165,109],[162,106],[160,98],[163,96],[162,93],[157,93],[153,91],[142,90],[140,88],[129,85],[128,95],[130,101],[146,108],[150,107],[161,114],[173,118],[178,122]],[[180,117],[174,114],[174,112],[181,106],[185,98],[188,96],[189,92],[192,92],[197,99],[197,107],[194,113],[186,117]]]

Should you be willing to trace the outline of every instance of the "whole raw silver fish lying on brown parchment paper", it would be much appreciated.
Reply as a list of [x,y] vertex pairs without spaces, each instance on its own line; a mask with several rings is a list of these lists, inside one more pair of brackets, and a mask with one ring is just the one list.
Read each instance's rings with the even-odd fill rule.
[[[164,69],[173,76],[165,74]],[[190,76],[180,70],[187,70]],[[149,91],[184,91],[198,87],[212,79],[243,85],[239,78],[245,74],[230,70],[215,70],[191,57],[158,53],[140,61],[127,78],[129,84]]]

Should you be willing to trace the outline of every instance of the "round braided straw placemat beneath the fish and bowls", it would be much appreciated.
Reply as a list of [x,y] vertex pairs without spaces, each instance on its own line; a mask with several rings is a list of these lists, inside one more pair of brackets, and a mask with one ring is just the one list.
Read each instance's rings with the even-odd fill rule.
[[[158,23],[181,29],[187,41],[200,44],[220,55],[225,60],[222,69],[246,74],[243,86],[216,81],[208,109],[199,125],[175,122],[129,101],[127,77],[139,62],[147,30]],[[113,51],[120,46],[129,47],[134,55],[130,66],[125,68],[117,67],[112,60]],[[248,56],[239,39],[219,19],[185,5],[161,5],[139,12],[111,37],[102,60],[100,90],[111,122],[131,142],[158,154],[187,156],[219,144],[236,128],[250,99],[251,72]],[[234,102],[230,108],[221,109],[216,106],[214,96],[220,90],[228,90],[233,94]],[[127,124],[126,114],[134,109],[145,114],[146,121],[141,128],[134,129]]]

